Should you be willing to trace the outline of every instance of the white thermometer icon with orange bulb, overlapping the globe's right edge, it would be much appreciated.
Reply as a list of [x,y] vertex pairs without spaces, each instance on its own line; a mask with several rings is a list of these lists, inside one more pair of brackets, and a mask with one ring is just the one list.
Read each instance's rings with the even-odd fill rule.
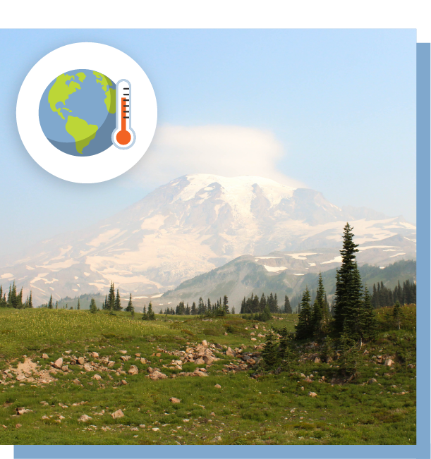
[[116,128],[112,133],[112,143],[121,149],[128,149],[136,139],[135,131],[130,127],[132,87],[128,80],[119,80],[116,84]]

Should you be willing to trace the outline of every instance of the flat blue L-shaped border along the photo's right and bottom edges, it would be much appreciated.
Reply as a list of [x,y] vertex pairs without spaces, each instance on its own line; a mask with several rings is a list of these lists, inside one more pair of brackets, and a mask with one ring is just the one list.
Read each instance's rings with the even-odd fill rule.
[[[15,446],[16,459],[391,458],[430,451],[430,44],[416,47],[418,202],[418,443],[415,446]],[[399,184],[402,186],[402,183]]]

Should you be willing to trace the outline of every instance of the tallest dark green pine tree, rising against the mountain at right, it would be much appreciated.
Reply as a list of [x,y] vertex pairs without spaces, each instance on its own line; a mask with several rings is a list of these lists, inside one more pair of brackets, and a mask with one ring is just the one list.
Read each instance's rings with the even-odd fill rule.
[[358,244],[353,243],[352,230],[348,223],[344,226],[341,267],[336,271],[334,329],[339,335],[349,333],[358,338],[358,331],[363,325],[363,301],[355,255]]

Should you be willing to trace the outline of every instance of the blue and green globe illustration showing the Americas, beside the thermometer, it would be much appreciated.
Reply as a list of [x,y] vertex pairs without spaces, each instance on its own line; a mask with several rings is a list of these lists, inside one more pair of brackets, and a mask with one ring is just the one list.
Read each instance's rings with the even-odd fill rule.
[[54,147],[78,157],[111,147],[116,85],[103,73],[78,69],[62,73],[44,90],[39,105],[42,131]]

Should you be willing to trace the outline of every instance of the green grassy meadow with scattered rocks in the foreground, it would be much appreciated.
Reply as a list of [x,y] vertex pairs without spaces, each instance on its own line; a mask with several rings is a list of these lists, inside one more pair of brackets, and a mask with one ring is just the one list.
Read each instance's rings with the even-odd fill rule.
[[[227,346],[242,348],[258,360],[270,326],[293,331],[296,314],[279,314],[266,324],[238,315],[157,315],[147,322],[126,312],[2,308],[0,443],[413,444],[415,306],[403,312],[398,331],[378,310],[380,336],[363,346],[358,380],[346,384],[336,360],[315,361],[321,352],[315,345],[301,345],[301,362],[278,375],[257,377],[241,353],[226,355]],[[178,351],[204,339],[219,360],[173,364]],[[59,357],[67,368],[54,369],[51,362]],[[74,357],[85,362],[73,363]],[[384,366],[389,357],[394,365]],[[129,374],[132,365],[138,374]],[[166,379],[147,377],[156,367]],[[312,375],[311,382],[305,375]],[[31,411],[18,415],[18,408]],[[114,419],[117,410],[124,416]],[[79,421],[83,415],[91,419]]]

